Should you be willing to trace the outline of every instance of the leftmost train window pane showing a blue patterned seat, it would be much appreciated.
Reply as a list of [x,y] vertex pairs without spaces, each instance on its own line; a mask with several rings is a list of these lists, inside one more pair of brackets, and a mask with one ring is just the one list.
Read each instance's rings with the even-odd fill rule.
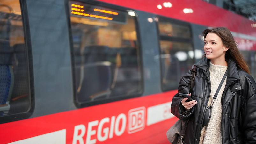
[[24,119],[24,114],[32,109],[28,54],[21,14],[19,0],[1,1],[0,123]]

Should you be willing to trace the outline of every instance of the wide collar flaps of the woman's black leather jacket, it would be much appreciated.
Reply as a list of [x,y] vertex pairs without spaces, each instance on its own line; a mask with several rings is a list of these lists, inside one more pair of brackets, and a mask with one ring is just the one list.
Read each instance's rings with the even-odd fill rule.
[[[199,69],[201,69],[202,71],[205,72],[205,74],[207,74],[209,76],[209,65],[210,65],[210,60],[207,59],[206,57],[202,58],[201,61],[199,61],[198,63],[195,64],[195,66]],[[229,86],[232,83],[239,81],[239,75],[238,75],[238,70],[237,70],[237,66],[235,61],[233,61],[232,59],[230,59],[228,61],[228,75],[227,75],[227,82],[226,85]],[[210,77],[210,76],[209,76]]]

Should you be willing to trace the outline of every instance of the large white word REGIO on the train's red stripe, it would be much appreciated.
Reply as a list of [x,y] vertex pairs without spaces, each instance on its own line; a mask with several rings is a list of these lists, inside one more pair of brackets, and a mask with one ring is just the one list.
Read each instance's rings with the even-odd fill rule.
[[[110,118],[106,117],[106,118],[101,119],[100,122],[99,122],[99,120],[89,122],[88,123],[88,128],[87,128],[87,135],[86,135],[86,143],[85,144],[95,144],[97,140],[96,139],[91,140],[91,136],[95,135],[96,133],[97,133],[97,139],[99,141],[105,141],[105,140],[107,140],[107,138],[109,138],[109,139],[113,138],[114,133],[117,136],[120,136],[124,133],[125,128],[126,128],[126,121],[127,121],[125,114],[123,114],[123,113],[119,114],[116,119],[115,119],[115,116],[112,116],[111,117],[111,122],[110,122],[110,128],[106,127],[104,129],[102,129],[103,125],[105,123],[109,123],[109,120],[110,120]],[[120,124],[121,124],[121,129],[119,127]],[[92,130],[93,126],[98,126],[97,131]],[[83,137],[84,137],[85,132],[86,132],[85,130],[86,130],[86,128],[83,124],[75,126],[72,144],[77,144],[77,141],[79,141],[79,144],[84,144]],[[79,134],[79,131],[81,131],[80,134]]]

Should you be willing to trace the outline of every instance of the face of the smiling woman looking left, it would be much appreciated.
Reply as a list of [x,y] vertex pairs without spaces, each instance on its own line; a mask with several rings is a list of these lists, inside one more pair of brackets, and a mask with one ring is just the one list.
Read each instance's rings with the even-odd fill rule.
[[204,40],[204,52],[206,58],[210,59],[213,64],[222,63],[225,61],[225,53],[227,51],[221,38],[215,33],[208,33]]

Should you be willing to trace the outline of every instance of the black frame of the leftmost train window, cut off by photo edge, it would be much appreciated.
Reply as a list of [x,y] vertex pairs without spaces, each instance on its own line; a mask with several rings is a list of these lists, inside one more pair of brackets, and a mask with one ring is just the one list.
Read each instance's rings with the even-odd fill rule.
[[31,36],[30,36],[27,3],[26,3],[26,0],[19,0],[19,3],[20,3],[20,10],[21,10],[21,16],[22,16],[24,43],[25,43],[25,49],[26,49],[26,64],[27,64],[27,71],[28,71],[27,75],[29,79],[28,80],[28,96],[29,96],[30,105],[26,112],[1,116],[0,124],[27,119],[33,114],[34,108],[35,108],[33,57],[32,57]]

